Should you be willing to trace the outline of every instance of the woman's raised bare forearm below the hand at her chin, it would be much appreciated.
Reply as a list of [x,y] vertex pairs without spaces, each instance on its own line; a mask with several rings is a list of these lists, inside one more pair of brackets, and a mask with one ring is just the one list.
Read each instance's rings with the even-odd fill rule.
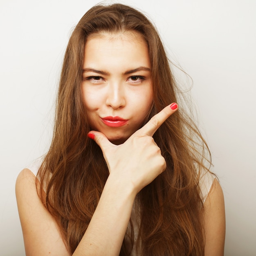
[[119,255],[136,193],[111,177],[74,256]]

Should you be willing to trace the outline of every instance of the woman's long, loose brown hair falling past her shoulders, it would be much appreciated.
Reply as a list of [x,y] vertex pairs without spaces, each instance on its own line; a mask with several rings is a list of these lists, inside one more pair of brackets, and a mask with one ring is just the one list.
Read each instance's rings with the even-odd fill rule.
[[[108,168],[99,146],[88,139],[90,126],[81,94],[86,38],[95,33],[137,31],[148,45],[152,68],[150,117],[181,95],[157,30],[141,12],[123,4],[92,7],[81,18],[65,52],[56,105],[54,135],[38,172],[42,201],[74,252],[97,207]],[[208,171],[209,151],[182,108],[153,136],[167,168],[137,195],[141,255],[204,255],[203,204],[198,182]],[[44,195],[45,193],[46,195]],[[130,223],[132,227],[132,223]],[[120,255],[130,255],[134,232],[127,232]]]

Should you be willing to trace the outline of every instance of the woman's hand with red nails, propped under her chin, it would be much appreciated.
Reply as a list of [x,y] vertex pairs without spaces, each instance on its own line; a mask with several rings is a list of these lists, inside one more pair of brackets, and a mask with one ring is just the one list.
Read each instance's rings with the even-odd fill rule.
[[176,110],[176,103],[166,106],[121,145],[112,144],[101,132],[89,132],[103,152],[110,177],[138,193],[165,170],[165,159],[152,136]]

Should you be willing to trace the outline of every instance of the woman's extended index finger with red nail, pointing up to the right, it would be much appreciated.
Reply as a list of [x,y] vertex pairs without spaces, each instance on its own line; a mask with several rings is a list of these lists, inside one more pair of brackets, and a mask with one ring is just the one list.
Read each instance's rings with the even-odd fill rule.
[[156,115],[154,115],[143,127],[138,131],[148,136],[153,136],[157,129],[164,123],[164,121],[170,117],[178,108],[176,103],[166,106]]

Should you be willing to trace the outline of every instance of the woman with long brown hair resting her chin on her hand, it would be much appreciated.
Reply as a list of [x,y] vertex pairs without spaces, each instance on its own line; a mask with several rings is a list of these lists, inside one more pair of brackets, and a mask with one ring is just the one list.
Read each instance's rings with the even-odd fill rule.
[[223,255],[223,193],[178,93],[143,14],[122,4],[85,13],[52,144],[16,182],[27,255]]

